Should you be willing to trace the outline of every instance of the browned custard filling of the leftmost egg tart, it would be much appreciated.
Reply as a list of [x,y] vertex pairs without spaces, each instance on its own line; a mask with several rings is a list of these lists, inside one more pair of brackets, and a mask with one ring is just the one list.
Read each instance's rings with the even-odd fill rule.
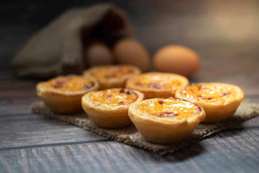
[[79,76],[57,77],[46,83],[47,88],[58,91],[80,91],[93,87],[93,82]]

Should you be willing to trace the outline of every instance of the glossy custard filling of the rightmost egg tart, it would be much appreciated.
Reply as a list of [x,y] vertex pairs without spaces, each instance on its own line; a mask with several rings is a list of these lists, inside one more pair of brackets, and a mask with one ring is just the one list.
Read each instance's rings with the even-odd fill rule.
[[181,95],[196,100],[212,100],[233,94],[233,88],[214,84],[191,85],[181,90]]

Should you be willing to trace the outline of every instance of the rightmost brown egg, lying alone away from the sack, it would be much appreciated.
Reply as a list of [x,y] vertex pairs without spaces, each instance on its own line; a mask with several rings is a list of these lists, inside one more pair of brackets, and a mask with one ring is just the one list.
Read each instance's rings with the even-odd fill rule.
[[198,55],[188,47],[168,45],[158,50],[153,65],[159,72],[177,73],[190,76],[199,67]]

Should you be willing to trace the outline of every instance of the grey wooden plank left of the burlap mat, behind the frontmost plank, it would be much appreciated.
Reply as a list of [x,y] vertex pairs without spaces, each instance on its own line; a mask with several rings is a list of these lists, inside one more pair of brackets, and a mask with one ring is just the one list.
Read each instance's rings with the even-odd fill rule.
[[16,114],[0,117],[0,148],[106,139],[42,115]]

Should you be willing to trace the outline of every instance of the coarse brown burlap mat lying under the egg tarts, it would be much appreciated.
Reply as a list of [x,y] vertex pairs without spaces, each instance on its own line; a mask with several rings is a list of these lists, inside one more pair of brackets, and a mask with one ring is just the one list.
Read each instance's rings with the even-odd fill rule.
[[43,102],[33,102],[32,111],[37,114],[75,124],[76,126],[108,137],[109,139],[152,151],[155,154],[164,155],[187,147],[192,143],[196,143],[204,137],[219,132],[220,130],[227,129],[235,124],[239,124],[250,118],[258,116],[259,104],[250,103],[248,100],[245,100],[240,104],[231,120],[217,124],[199,124],[186,141],[177,144],[156,144],[147,142],[142,138],[134,125],[122,129],[103,129],[97,127],[85,113],[74,115],[56,114],[51,112],[51,110],[49,110]]

